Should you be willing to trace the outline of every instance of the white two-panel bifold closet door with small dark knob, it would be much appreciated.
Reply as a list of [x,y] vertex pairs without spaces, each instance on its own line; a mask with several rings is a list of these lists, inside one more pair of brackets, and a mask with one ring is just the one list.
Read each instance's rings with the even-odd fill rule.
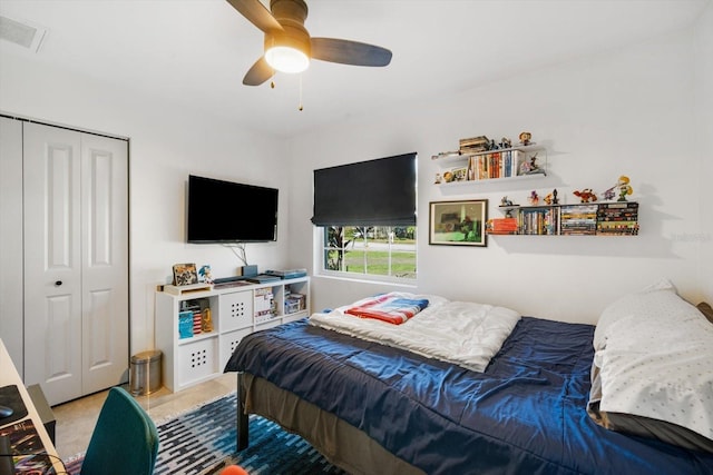
[[126,380],[128,147],[23,129],[25,383],[51,405]]

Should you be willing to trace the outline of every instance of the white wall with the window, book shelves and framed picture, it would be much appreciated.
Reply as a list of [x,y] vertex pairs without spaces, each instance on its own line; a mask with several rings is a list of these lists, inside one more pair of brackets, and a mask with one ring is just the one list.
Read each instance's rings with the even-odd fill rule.
[[[695,40],[692,31],[656,38],[295,138],[291,255],[312,248],[314,168],[416,150],[419,291],[586,323],[596,321],[607,303],[660,277],[684,297],[701,298],[699,276],[710,277],[710,270],[700,271],[700,243],[690,236],[710,236],[710,225],[704,230],[701,224],[710,211],[702,210],[704,184],[695,178],[702,168],[693,139]],[[710,93],[706,85],[699,89]],[[457,148],[462,137],[515,139],[522,130],[548,147],[547,178],[452,192],[432,186],[438,168],[431,155]],[[526,204],[533,189],[543,196],[557,188],[564,202],[577,202],[573,190],[600,192],[619,175],[629,176],[631,199],[641,202],[638,237],[500,236],[489,238],[487,248],[428,245],[430,201],[487,198],[490,216],[500,216],[496,207],[504,195]],[[313,307],[387,288],[315,278]]]

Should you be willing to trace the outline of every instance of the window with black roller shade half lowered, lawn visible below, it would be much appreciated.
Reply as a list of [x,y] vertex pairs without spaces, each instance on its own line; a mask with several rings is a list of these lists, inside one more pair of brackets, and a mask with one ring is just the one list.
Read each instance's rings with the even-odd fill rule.
[[416,279],[416,154],[314,170],[322,271]]

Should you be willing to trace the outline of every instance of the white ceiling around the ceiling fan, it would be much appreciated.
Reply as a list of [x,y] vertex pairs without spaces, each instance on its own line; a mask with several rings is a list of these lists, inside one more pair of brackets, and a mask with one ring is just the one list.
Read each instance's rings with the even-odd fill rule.
[[275,89],[242,85],[263,34],[225,0],[0,0],[1,16],[48,29],[38,52],[0,41],[0,67],[23,55],[290,136],[674,32],[709,1],[307,0],[313,37],[382,46],[393,59],[312,61],[303,111],[297,77],[279,75]]

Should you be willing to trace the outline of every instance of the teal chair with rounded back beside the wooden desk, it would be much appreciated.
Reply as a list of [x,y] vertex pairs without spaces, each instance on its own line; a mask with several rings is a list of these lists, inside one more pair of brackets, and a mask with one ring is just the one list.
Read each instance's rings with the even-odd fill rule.
[[141,406],[120,387],[109,389],[91,433],[81,475],[150,475],[158,432]]

